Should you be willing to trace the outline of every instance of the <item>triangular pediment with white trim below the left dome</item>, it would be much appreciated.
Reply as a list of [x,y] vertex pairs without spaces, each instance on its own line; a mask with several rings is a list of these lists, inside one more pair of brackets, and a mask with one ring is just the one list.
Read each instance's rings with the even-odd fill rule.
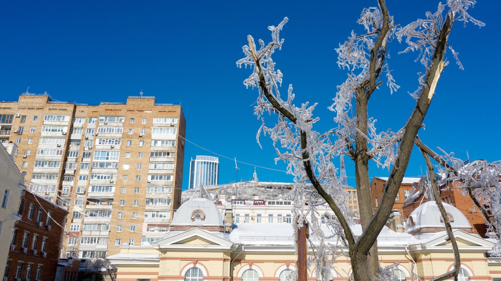
[[164,238],[152,244],[158,248],[207,247],[208,245],[211,245],[212,248],[233,247],[233,242],[199,228],[183,231],[177,235]]

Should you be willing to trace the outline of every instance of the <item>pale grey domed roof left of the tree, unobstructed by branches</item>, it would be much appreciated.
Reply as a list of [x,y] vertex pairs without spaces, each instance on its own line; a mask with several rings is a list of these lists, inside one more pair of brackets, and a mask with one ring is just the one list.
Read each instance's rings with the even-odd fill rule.
[[177,228],[187,230],[192,227],[216,230],[221,227],[224,229],[224,220],[221,212],[211,200],[193,198],[179,206],[170,226],[171,230]]

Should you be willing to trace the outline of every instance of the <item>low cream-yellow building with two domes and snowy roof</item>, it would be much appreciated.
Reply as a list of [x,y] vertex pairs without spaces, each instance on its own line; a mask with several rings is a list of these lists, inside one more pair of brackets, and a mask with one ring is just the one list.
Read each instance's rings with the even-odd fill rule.
[[[461,281],[498,281],[501,263],[490,252],[495,241],[472,234],[465,218],[452,208],[446,206],[454,219]],[[411,272],[429,280],[453,266],[452,248],[433,210],[432,202],[423,204],[413,212],[413,224],[407,222],[405,232],[384,227],[378,237],[381,266],[400,261],[395,270],[399,281],[410,280]],[[151,245],[123,244],[120,253],[108,257],[118,268],[117,281],[282,281],[295,269],[292,224],[241,222],[231,231],[225,231],[225,224],[224,214],[210,200],[188,200],[174,214],[163,239]],[[360,234],[360,225],[353,231]],[[321,279],[314,269],[309,270],[309,280]],[[349,259],[338,257],[330,279],[348,280],[350,274]]]

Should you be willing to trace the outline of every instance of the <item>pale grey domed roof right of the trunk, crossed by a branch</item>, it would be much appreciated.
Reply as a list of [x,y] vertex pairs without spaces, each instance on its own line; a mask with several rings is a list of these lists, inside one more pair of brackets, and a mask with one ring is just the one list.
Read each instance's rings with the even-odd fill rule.
[[[442,202],[445,212],[450,220],[452,228],[461,228],[462,230],[471,232],[471,225],[464,214],[453,205]],[[423,233],[423,232],[438,232],[445,230],[440,210],[435,201],[427,201],[422,203],[410,214],[405,222],[405,232]]]

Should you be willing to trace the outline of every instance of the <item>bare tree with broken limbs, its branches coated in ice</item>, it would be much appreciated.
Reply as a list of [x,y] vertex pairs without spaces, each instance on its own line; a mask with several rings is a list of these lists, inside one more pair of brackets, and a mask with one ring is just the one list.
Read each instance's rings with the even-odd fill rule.
[[[308,101],[295,103],[296,96],[292,84],[289,85],[287,93],[280,91],[283,73],[277,68],[272,56],[276,50],[282,48],[284,39],[280,37],[280,31],[288,18],[284,18],[277,26],[268,27],[272,32],[272,41],[268,44],[260,39],[257,46],[254,38],[251,35],[247,36],[248,45],[243,46],[245,57],[236,63],[239,67],[243,65],[252,69],[252,73],[243,83],[247,87],[258,89],[258,99],[254,108],[255,114],[262,121],[257,133],[258,143],[262,133],[268,134],[278,154],[276,161],[285,160],[288,163],[287,170],[294,176],[295,182],[293,195],[298,206],[295,211],[301,214],[300,220],[308,220],[313,228],[311,231],[313,235],[310,235],[310,238],[323,240],[330,236],[340,237],[339,243],[322,243],[325,246],[315,252],[314,261],[317,262],[317,266],[322,268],[331,266],[326,264],[325,255],[331,255],[331,260],[334,260],[339,254],[344,254],[350,257],[355,280],[390,278],[388,276],[391,274],[380,269],[378,264],[377,236],[390,215],[417,133],[423,126],[423,119],[442,70],[448,64],[445,57],[447,51],[462,68],[457,52],[448,44],[453,23],[462,21],[464,25],[467,22],[484,25],[468,13],[474,3],[474,0],[446,0],[445,4],[438,4],[436,12],[427,12],[424,19],[417,19],[405,26],[394,23],[384,0],[378,0],[378,7],[364,8],[358,20],[363,33],[359,35],[352,31],[348,40],[336,49],[338,65],[348,71],[348,78],[337,87],[334,102],[328,107],[333,111],[336,126],[325,132],[314,129],[315,124],[320,121],[320,118],[314,115],[317,103],[311,104]],[[399,88],[391,75],[386,55],[387,44],[393,38],[407,45],[403,47],[402,52],[418,52],[416,61],[419,61],[424,69],[419,75],[418,88],[410,93],[416,99],[416,104],[405,126],[397,131],[378,132],[375,119],[368,116],[367,106],[369,98],[383,83],[386,82],[391,92]],[[265,122],[265,116],[269,114],[277,116],[277,121],[273,125]],[[428,155],[439,161],[442,172],[448,171],[446,180],[464,181],[464,188],[472,190],[470,192],[472,197],[481,200],[481,204],[490,202],[490,206],[482,205],[485,207],[485,213],[489,215],[496,213],[499,209],[498,204],[494,205],[499,202],[497,198],[499,183],[496,181],[499,169],[494,168],[492,164],[484,163],[481,172],[478,169],[473,172],[471,169],[459,166],[459,161],[452,155],[438,156],[436,153],[432,155],[430,154],[432,150],[426,149],[424,144],[419,147],[431,172],[433,166]],[[358,237],[351,230],[350,225],[353,221],[347,215],[348,211],[344,204],[345,192],[333,163],[334,157],[342,153],[350,156],[355,164],[359,210],[364,230]],[[381,203],[375,212],[370,194],[369,160],[376,161],[378,167],[390,169]],[[497,168],[499,166],[498,163],[494,165]],[[485,173],[489,173],[489,176],[484,176]],[[311,183],[314,190],[308,187],[307,183]],[[431,183],[438,194],[436,182]],[[490,193],[487,192],[489,188],[493,189],[489,191]],[[497,191],[495,202],[486,198],[494,196],[495,191]],[[310,198],[314,197],[313,193],[318,193],[324,201],[312,202]],[[304,201],[311,202],[307,210],[300,207]],[[335,217],[326,219],[332,233],[324,233],[318,225],[319,216],[324,215],[318,210],[318,205],[321,204],[328,204],[335,213]],[[437,204],[443,210],[440,200],[437,200]],[[493,206],[497,209],[493,209]],[[450,230],[444,210],[442,214],[446,227]],[[500,220],[495,221],[497,222],[491,219],[488,222],[494,232],[501,227],[496,225]],[[451,231],[448,233],[451,235]],[[453,237],[451,241],[455,244]],[[345,249],[347,252],[344,252]],[[452,271],[437,277],[437,280],[457,276],[459,270],[457,247],[454,251],[456,266]]]

